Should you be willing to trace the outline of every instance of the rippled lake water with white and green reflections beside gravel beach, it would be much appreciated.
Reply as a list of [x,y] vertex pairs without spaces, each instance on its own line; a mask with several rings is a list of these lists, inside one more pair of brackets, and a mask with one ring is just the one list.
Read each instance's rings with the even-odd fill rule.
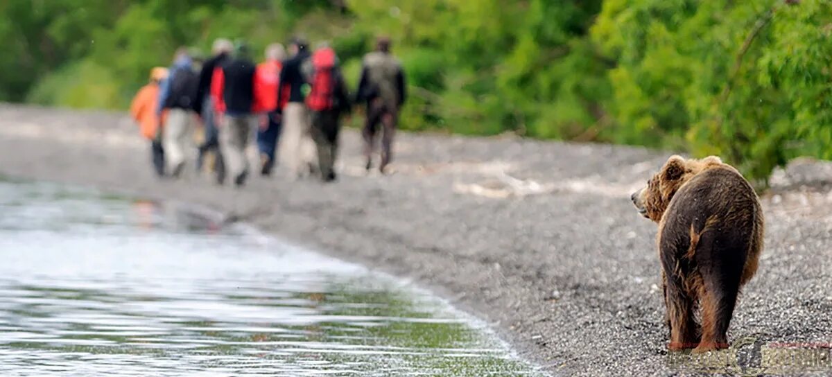
[[389,276],[183,206],[0,181],[0,375],[538,372]]

